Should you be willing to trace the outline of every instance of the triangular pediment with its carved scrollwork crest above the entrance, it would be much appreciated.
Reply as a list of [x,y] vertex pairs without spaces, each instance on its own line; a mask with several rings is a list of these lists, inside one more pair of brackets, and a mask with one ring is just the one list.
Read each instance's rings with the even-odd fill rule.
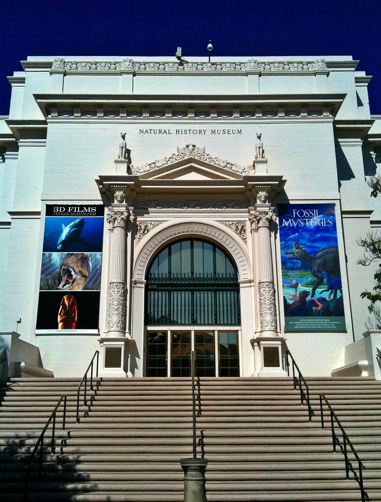
[[169,157],[132,167],[132,173],[142,180],[239,180],[253,174],[253,169],[212,157],[204,147],[187,145]]

